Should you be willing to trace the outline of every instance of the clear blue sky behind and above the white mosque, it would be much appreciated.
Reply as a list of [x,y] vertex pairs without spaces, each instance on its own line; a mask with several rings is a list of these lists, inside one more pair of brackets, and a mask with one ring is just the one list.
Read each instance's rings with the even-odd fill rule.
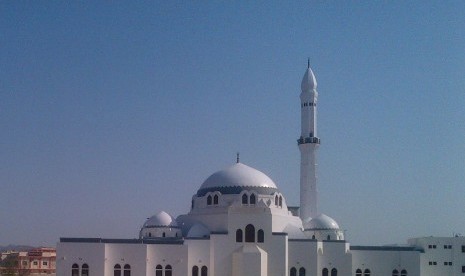
[[307,57],[320,210],[465,234],[465,1],[1,1],[0,244],[135,238],[237,151],[298,205]]

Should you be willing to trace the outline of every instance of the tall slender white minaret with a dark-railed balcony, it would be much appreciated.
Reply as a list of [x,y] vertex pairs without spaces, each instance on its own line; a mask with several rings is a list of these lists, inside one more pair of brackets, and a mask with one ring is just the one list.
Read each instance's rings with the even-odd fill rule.
[[301,134],[297,140],[300,150],[300,218],[306,220],[318,215],[316,187],[316,151],[320,145],[317,135],[316,115],[318,92],[316,79],[308,61],[300,93]]

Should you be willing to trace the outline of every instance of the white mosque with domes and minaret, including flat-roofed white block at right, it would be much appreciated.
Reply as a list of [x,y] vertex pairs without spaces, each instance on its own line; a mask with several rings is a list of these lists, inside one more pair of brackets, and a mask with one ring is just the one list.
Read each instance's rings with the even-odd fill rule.
[[239,162],[209,176],[176,219],[147,219],[136,239],[61,238],[57,275],[438,276],[465,275],[464,237],[422,237],[405,246],[351,246],[318,210],[317,82],[301,84],[300,207],[264,173]]

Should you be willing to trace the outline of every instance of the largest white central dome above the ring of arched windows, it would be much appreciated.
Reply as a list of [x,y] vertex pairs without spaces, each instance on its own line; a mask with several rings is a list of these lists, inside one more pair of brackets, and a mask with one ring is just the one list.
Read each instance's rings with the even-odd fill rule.
[[197,194],[215,190],[235,193],[234,191],[242,190],[241,188],[277,190],[276,184],[266,174],[242,163],[236,163],[210,175],[200,186]]

